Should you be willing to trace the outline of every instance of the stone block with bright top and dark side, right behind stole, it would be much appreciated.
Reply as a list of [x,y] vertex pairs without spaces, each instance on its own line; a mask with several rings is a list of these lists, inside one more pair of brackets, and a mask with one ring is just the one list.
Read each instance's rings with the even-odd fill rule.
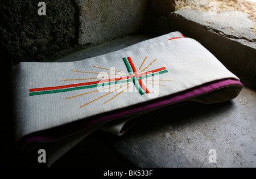
[[158,19],[158,33],[180,31],[199,41],[245,86],[255,90],[256,37],[250,31],[251,22],[247,15],[229,11],[210,17],[207,13],[195,10],[171,12],[166,18]]

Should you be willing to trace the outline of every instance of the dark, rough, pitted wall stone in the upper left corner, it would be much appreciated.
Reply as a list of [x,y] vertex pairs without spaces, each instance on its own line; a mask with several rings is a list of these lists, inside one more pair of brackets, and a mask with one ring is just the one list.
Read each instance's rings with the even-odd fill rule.
[[72,1],[44,0],[46,16],[35,0],[2,0],[0,47],[11,64],[49,61],[76,44],[78,15]]

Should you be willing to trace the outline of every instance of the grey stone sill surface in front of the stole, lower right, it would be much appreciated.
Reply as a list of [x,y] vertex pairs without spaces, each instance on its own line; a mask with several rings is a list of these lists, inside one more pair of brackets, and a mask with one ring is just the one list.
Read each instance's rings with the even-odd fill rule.
[[[244,88],[228,103],[150,114],[115,148],[138,167],[256,167],[255,94]],[[211,149],[216,163],[209,162]]]

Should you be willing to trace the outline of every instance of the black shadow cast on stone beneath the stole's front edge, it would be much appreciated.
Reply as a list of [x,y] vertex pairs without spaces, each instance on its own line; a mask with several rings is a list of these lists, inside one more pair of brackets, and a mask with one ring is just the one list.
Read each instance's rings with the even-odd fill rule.
[[[166,125],[183,126],[191,122],[191,118],[197,118],[197,116],[200,122],[203,120],[201,115],[222,113],[232,109],[232,106],[233,103],[228,101],[211,105],[191,103],[158,109],[137,118],[138,122],[121,137],[104,131],[95,131],[61,157],[52,167],[138,167],[137,164],[132,163],[132,158],[127,157],[129,154],[122,154],[118,151],[116,147],[120,143],[122,146],[123,141],[136,140],[138,136],[147,137],[148,134],[159,133]],[[122,147],[132,152],[129,146],[123,144]],[[138,147],[139,150],[143,150],[142,146]]]

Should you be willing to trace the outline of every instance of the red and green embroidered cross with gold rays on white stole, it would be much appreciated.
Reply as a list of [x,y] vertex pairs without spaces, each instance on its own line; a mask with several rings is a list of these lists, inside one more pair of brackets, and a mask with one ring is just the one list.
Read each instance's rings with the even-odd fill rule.
[[[181,35],[182,37],[174,37],[172,39],[169,39],[169,40],[174,40],[174,39],[182,39],[182,38],[185,38],[184,35]],[[139,67],[139,70],[141,70],[144,62],[146,61],[147,57],[144,59],[144,61],[142,62],[141,64],[141,67]],[[123,85],[121,87],[119,87],[118,89],[115,89],[113,91],[110,91],[109,93],[107,93],[106,95],[103,95],[101,97],[98,97],[97,99],[93,100],[93,101],[90,101],[89,103],[85,104],[85,105],[82,105],[80,106],[80,108],[90,104],[90,103],[93,103],[94,101],[98,100],[98,99],[101,99],[102,97],[104,96],[107,96],[107,95],[110,95],[111,93],[123,88],[123,87],[127,87],[125,88],[125,90],[127,90],[130,86],[129,86],[129,83],[130,82],[133,82],[134,83],[134,86],[137,88],[137,90],[139,91],[139,93],[141,95],[144,95],[146,93],[150,93],[150,91],[148,91],[148,89],[146,88],[146,86],[144,86],[143,82],[142,82],[142,79],[147,79],[151,76],[155,76],[155,75],[159,75],[159,74],[163,74],[163,73],[167,73],[168,71],[166,70],[166,67],[162,67],[160,69],[156,69],[156,70],[151,70],[151,71],[148,71],[148,72],[145,72],[143,73],[143,71],[145,71],[148,67],[150,67],[152,65],[152,63],[154,63],[156,61],[156,59],[150,63],[150,65],[148,65],[144,70],[142,70],[141,72],[142,73],[138,73],[138,71],[136,70],[135,66],[134,66],[134,63],[133,61],[131,60],[131,57],[125,57],[123,58],[123,62],[125,62],[125,65],[127,67],[127,70],[129,72],[129,76],[125,76],[125,75],[121,75],[121,76],[125,76],[125,77],[122,77],[122,78],[112,78],[113,76],[110,76],[110,79],[103,79],[103,80],[99,80],[99,81],[96,81],[96,82],[86,82],[86,83],[76,83],[76,84],[68,84],[68,85],[64,85],[64,86],[56,86],[56,87],[44,87],[44,88],[31,88],[30,89],[30,96],[35,96],[35,95],[45,95],[45,94],[51,94],[51,93],[60,93],[60,92],[67,92],[67,91],[74,91],[74,90],[82,90],[82,89],[88,89],[88,88],[96,88],[98,86],[109,86],[108,88],[104,88],[104,89],[101,89],[101,90],[96,90],[96,91],[91,91],[91,92],[86,92],[86,93],[83,93],[83,94],[80,94],[80,95],[76,95],[76,96],[72,96],[72,97],[68,97],[66,99],[73,99],[75,97],[79,97],[79,96],[82,96],[82,95],[86,95],[86,94],[89,94],[89,93],[94,93],[94,92],[98,92],[98,91],[102,91],[102,90],[106,90],[106,89],[110,89],[110,88],[115,88],[117,86],[114,86],[114,87],[110,87],[114,84],[119,84],[119,83],[126,83],[126,85]],[[105,70],[110,70],[112,71],[111,69],[106,69],[104,67],[98,67],[98,66],[93,66],[93,67],[97,67],[97,68],[100,68],[100,69],[105,69]],[[100,74],[100,73],[96,73],[96,72],[89,72],[89,71],[76,71],[76,70],[71,70],[71,71],[74,71],[74,72],[79,72],[79,73],[93,73],[93,74]],[[114,70],[114,71],[118,71],[118,70]],[[121,73],[124,73],[122,71],[118,71],[118,72],[121,72]],[[105,73],[105,74],[109,74],[109,75],[115,75],[115,74],[111,74],[111,73]],[[90,79],[98,79],[98,78],[84,78],[84,79],[67,79],[67,80],[62,80],[62,81],[69,81],[69,80],[90,80]],[[172,81],[172,80],[147,80],[147,81],[161,81],[161,82],[164,82],[164,81]],[[148,84],[154,84],[154,83],[150,83],[150,82],[147,82]],[[157,84],[159,86],[166,86],[164,84]],[[115,97],[117,97],[118,95],[120,95],[122,92],[124,92],[125,90],[119,92],[117,95],[115,95],[114,97],[112,97],[112,99],[106,101],[104,104],[108,103],[109,101],[113,100]]]

